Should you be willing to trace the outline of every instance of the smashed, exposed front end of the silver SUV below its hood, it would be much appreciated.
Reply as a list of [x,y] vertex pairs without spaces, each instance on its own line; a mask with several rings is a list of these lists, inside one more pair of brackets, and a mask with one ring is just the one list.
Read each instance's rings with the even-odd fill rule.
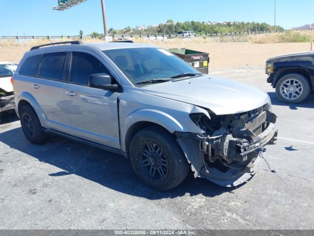
[[176,132],[177,141],[191,164],[194,177],[226,186],[237,186],[256,173],[260,152],[277,137],[276,115],[270,104],[234,115],[209,111],[190,118],[204,133]]

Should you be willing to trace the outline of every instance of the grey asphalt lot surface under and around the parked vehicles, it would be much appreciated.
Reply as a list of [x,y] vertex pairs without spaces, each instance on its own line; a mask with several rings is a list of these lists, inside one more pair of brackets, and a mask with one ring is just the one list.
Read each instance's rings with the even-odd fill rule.
[[279,138],[267,147],[270,168],[237,188],[189,175],[157,192],[129,160],[60,137],[40,146],[14,115],[0,123],[0,229],[314,229],[314,94],[279,102],[263,66],[211,71],[270,95]]

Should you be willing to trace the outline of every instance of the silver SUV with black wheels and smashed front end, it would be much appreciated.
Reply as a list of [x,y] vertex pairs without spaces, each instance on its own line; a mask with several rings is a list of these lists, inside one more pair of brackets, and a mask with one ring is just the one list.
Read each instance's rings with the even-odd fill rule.
[[190,168],[194,177],[236,186],[255,174],[277,134],[265,92],[201,74],[152,45],[33,47],[14,91],[31,143],[51,132],[122,154],[158,190],[176,187]]

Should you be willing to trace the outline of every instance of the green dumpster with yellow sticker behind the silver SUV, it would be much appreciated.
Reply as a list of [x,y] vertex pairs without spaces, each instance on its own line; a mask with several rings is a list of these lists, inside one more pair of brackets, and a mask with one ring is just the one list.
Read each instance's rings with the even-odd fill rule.
[[186,48],[170,48],[169,52],[182,58],[201,73],[208,74],[209,54]]

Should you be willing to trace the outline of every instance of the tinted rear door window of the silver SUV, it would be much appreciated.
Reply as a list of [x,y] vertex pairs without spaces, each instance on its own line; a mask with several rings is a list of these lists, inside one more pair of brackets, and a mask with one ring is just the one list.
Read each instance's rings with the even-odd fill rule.
[[66,52],[45,54],[40,65],[39,76],[47,79],[63,80]]

